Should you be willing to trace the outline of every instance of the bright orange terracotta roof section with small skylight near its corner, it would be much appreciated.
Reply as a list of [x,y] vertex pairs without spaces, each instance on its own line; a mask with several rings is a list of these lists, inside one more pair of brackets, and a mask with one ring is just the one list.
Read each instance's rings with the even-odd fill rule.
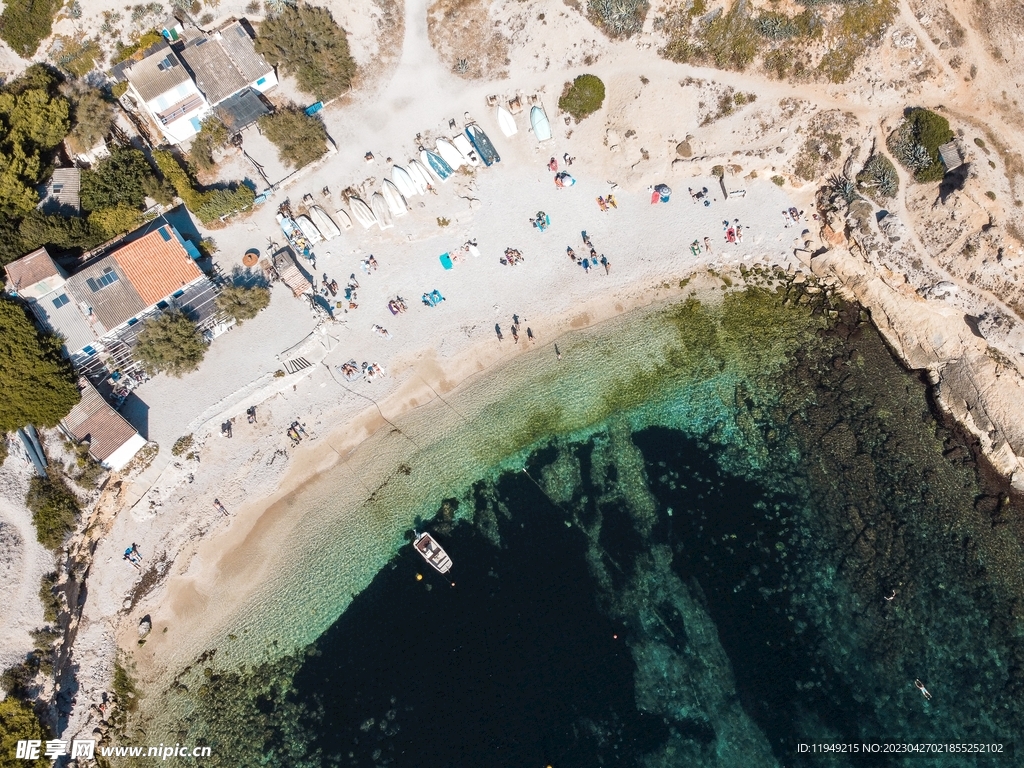
[[111,254],[147,306],[203,276],[178,242],[177,232],[164,225]]

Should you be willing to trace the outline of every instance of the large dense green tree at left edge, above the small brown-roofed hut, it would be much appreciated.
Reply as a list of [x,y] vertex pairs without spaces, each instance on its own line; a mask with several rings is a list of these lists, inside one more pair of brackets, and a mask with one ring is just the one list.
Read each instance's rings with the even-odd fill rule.
[[55,427],[80,395],[59,337],[38,332],[15,301],[0,299],[0,432]]

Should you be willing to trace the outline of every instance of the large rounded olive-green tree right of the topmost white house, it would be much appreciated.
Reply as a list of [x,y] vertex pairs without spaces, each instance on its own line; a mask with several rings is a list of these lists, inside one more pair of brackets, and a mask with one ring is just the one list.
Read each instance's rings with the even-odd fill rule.
[[327,8],[286,6],[260,25],[256,50],[322,101],[347,91],[355,77],[348,36]]

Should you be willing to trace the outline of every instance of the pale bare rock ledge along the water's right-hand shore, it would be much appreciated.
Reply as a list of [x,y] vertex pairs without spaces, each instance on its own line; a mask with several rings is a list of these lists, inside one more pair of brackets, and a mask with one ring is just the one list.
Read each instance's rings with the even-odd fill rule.
[[911,369],[928,372],[939,406],[977,436],[993,466],[1024,490],[1024,376],[948,304],[922,298],[905,278],[837,247],[809,259],[870,313]]

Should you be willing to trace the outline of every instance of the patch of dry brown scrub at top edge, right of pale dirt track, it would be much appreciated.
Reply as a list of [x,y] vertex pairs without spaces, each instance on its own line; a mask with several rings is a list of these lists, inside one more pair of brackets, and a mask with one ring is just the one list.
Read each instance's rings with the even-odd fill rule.
[[483,0],[436,0],[427,11],[427,35],[452,72],[467,79],[501,78],[509,40]]

